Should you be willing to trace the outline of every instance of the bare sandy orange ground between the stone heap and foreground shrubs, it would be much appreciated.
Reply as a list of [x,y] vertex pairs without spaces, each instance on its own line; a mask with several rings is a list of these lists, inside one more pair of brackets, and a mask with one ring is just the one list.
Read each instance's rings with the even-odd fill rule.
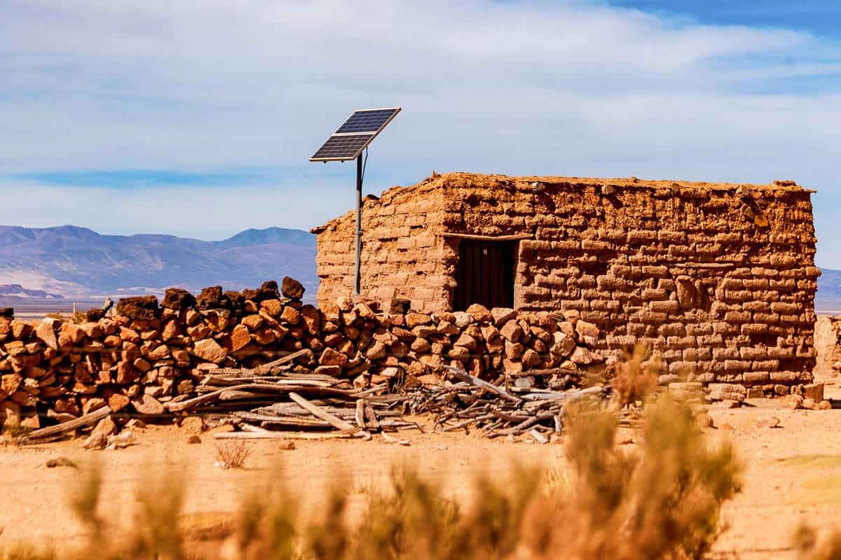
[[[829,386],[827,396],[841,407],[841,390]],[[841,410],[791,411],[776,401],[751,400],[749,406],[725,410],[711,406],[716,428],[711,437],[735,442],[746,471],[743,492],[724,510],[727,530],[712,557],[795,557],[791,535],[798,523],[841,528]],[[775,416],[780,427],[759,427]],[[454,495],[468,492],[477,470],[494,476],[510,474],[515,460],[563,469],[563,445],[489,441],[464,434],[401,434],[410,447],[376,438],[297,440],[283,450],[278,442],[253,442],[244,470],[214,466],[214,439],[188,444],[177,427],[148,427],[138,444],[117,451],[83,452],[80,441],[33,447],[0,447],[0,527],[3,542],[81,542],[82,526],[67,505],[69,492],[81,478],[74,468],[46,468],[50,458],[71,458],[80,466],[91,460],[103,465],[105,518],[119,526],[133,507],[132,495],[141,471],[156,477],[183,474],[188,480],[185,514],[196,521],[219,520],[240,500],[280,477],[308,500],[318,500],[336,479],[350,474],[360,489],[388,484],[395,463],[410,462],[438,479]],[[315,498],[314,498],[315,497]]]

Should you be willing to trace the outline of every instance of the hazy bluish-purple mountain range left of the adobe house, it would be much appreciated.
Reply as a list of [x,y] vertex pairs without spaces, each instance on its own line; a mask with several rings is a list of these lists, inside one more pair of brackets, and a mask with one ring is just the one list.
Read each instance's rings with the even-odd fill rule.
[[[222,241],[172,235],[101,235],[87,228],[0,226],[3,296],[100,296],[256,287],[284,275],[315,296],[315,236],[299,229],[247,229]],[[44,292],[40,295],[39,292]],[[39,293],[38,296],[35,294]]]

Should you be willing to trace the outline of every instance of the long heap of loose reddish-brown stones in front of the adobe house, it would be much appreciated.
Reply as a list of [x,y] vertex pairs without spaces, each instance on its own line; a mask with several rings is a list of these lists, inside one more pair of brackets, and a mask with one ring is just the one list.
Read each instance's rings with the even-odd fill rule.
[[[520,386],[566,389],[605,367],[592,348],[600,332],[579,314],[512,309],[429,315],[388,314],[348,298],[320,309],[304,305],[304,288],[285,279],[281,293],[259,290],[193,297],[167,290],[119,301],[117,313],[82,324],[29,323],[0,316],[0,426],[71,420],[109,406],[159,415],[195,396],[219,368],[254,368],[303,350],[295,369],[346,378],[367,387],[410,387],[442,364],[484,379],[517,376]],[[541,372],[539,377],[528,372]],[[515,382],[515,381],[512,381]],[[525,384],[525,385],[523,385]]]

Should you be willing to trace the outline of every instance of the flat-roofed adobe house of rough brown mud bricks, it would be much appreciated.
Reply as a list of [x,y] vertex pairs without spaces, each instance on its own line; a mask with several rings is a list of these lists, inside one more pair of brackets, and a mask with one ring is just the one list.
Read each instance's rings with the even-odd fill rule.
[[[449,173],[369,196],[362,296],[578,310],[607,353],[651,345],[674,373],[780,391],[812,379],[813,191]],[[350,296],[353,213],[318,234],[319,301]]]

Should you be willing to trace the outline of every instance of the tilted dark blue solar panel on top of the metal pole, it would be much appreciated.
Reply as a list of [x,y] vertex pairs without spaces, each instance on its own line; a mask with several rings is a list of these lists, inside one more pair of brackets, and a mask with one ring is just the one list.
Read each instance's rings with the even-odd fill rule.
[[355,159],[399,112],[400,107],[354,111],[309,161]]

